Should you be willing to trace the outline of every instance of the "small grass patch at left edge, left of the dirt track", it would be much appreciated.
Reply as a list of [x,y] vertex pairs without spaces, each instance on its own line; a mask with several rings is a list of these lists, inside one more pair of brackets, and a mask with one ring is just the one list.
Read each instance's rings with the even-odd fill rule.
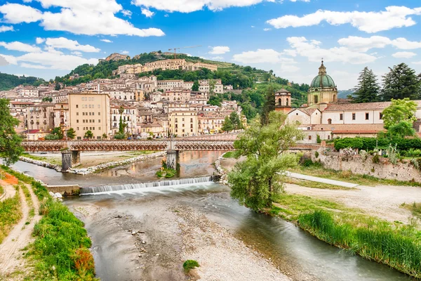
[[22,218],[19,186],[15,188],[15,196],[0,202],[0,243],[3,242],[4,238],[11,232],[13,226]]

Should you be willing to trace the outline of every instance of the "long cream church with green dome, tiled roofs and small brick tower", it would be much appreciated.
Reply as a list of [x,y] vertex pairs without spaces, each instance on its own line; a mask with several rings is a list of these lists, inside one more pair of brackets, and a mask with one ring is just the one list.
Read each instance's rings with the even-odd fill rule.
[[[421,119],[421,100],[417,103],[415,117]],[[383,127],[382,111],[390,102],[350,103],[338,98],[338,87],[326,72],[321,61],[319,74],[314,77],[307,93],[307,104],[298,108],[291,107],[291,93],[281,89],[275,93],[275,110],[288,115],[289,122],[296,122],[305,132],[302,143],[317,143],[333,138],[356,136],[377,136]],[[420,130],[420,125],[415,128]]]

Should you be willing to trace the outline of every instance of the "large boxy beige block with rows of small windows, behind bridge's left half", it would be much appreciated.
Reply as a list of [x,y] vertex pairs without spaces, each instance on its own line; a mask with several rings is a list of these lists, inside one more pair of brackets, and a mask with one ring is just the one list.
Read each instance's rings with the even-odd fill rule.
[[76,139],[83,139],[86,131],[93,138],[110,133],[110,107],[107,93],[69,93],[70,126],[76,131]]

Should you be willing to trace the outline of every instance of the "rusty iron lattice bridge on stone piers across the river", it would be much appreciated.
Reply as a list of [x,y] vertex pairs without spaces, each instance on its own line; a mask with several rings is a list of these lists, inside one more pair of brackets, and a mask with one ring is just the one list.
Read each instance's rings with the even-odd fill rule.
[[62,171],[77,166],[81,161],[81,151],[100,150],[166,150],[167,165],[173,169],[178,163],[178,153],[184,150],[234,150],[234,139],[200,139],[181,138],[165,141],[22,141],[22,147],[28,152],[55,152],[62,153]]

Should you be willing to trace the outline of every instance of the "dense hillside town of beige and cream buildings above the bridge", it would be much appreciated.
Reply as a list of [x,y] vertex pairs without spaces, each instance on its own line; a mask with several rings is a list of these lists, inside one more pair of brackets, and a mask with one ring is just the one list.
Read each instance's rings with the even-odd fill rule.
[[[119,131],[120,118],[128,138],[220,133],[225,117],[232,112],[246,124],[236,101],[208,105],[210,95],[232,89],[224,87],[220,79],[199,80],[199,91],[192,91],[194,82],[157,81],[153,75],[135,75],[144,72],[143,67],[149,71],[178,69],[180,65],[191,67],[178,59],[159,60],[145,66],[122,65],[117,70],[120,75],[117,79],[95,79],[76,86],[60,84],[58,90],[55,84],[20,85],[1,91],[0,96],[10,100],[11,114],[20,121],[16,131],[27,140],[45,138],[57,127],[62,131],[72,128],[79,140],[85,138],[87,131],[93,133],[91,138],[110,139]],[[199,63],[193,67],[208,65]]]

